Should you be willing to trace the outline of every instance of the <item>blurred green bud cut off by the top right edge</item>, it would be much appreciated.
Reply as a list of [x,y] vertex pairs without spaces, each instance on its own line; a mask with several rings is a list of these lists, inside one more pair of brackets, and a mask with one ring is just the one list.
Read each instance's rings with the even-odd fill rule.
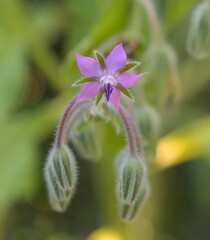
[[199,4],[192,14],[187,37],[187,50],[194,58],[202,59],[210,53],[210,3]]

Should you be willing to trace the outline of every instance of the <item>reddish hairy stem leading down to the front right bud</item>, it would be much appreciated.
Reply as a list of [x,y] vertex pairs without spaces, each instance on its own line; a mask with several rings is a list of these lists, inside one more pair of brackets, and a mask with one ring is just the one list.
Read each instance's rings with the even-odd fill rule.
[[130,153],[131,153],[131,155],[135,155],[136,154],[135,136],[134,136],[134,133],[133,133],[133,130],[132,130],[132,126],[130,124],[129,117],[122,107],[119,108],[119,113],[120,113],[120,116],[123,120],[123,123],[124,123],[125,128],[126,128],[126,132],[127,132],[127,135],[128,135]]

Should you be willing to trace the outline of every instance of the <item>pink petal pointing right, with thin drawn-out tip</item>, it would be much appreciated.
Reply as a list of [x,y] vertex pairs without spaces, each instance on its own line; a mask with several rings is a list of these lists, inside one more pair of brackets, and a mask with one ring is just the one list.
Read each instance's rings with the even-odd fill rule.
[[139,75],[133,75],[133,74],[129,74],[129,73],[121,73],[119,74],[119,76],[117,77],[117,82],[120,83],[123,87],[125,88],[129,88],[132,87],[141,76],[143,76],[144,74],[147,74],[148,72],[145,73],[141,73]]

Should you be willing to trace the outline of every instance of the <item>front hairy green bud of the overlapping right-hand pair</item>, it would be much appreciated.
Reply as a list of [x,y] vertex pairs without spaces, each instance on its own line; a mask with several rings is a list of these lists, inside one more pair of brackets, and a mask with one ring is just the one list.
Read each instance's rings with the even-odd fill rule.
[[144,175],[144,165],[137,157],[129,157],[120,166],[118,173],[119,198],[123,203],[136,200]]

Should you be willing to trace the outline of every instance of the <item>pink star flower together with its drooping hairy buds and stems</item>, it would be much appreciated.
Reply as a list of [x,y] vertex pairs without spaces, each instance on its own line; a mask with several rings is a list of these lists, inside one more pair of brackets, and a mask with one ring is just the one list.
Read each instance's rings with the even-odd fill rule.
[[[107,120],[112,118],[111,122],[114,122],[117,132],[119,131],[118,119],[116,118],[116,120],[113,117],[113,110],[110,110],[112,108],[109,107],[110,101],[116,109],[114,115],[117,114],[121,117],[128,137],[128,147],[123,150],[116,161],[120,216],[128,221],[136,216],[147,195],[148,184],[146,183],[148,183],[148,179],[134,114],[120,106],[120,96],[122,93],[129,109],[129,99],[133,101],[134,98],[128,88],[133,86],[147,72],[139,75],[127,73],[128,70],[138,66],[139,63],[126,64],[127,56],[122,44],[116,46],[106,60],[99,52],[95,52],[95,56],[97,61],[77,54],[78,67],[85,78],[78,80],[74,85],[86,85],[81,93],[67,105],[57,129],[54,147],[46,161],[44,175],[49,201],[53,210],[63,212],[67,209],[75,191],[77,168],[74,155],[67,145],[69,139],[70,146],[73,145],[74,150],[80,157],[88,160],[97,160],[100,157],[99,132],[96,125],[93,128],[88,125],[92,124],[92,120],[97,118],[97,114],[94,114],[94,112],[97,112],[97,109],[100,108],[100,100],[103,101],[101,113],[98,115],[100,116],[99,119],[104,118],[104,115]],[[106,98],[106,101],[103,97]],[[87,102],[93,98],[95,98],[94,106],[92,101]],[[130,101],[130,104],[132,104],[132,101]],[[76,121],[79,123],[78,119],[83,113],[89,114],[89,119],[86,121],[88,124],[84,124],[83,118],[82,127],[77,124],[76,128],[73,128],[73,124]],[[84,129],[84,126],[86,129]],[[70,136],[72,130],[74,131]]]

